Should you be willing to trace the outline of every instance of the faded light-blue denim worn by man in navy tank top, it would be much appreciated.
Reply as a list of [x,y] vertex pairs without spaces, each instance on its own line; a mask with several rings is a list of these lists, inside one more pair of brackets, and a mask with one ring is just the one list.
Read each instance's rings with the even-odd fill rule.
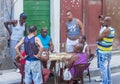
[[25,84],[31,84],[32,80],[34,84],[42,84],[42,69],[40,60],[28,61],[25,63]]

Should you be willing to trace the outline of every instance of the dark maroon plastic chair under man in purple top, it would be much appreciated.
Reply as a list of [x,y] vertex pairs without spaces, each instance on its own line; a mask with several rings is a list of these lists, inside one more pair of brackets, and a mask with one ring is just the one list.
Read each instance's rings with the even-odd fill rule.
[[77,64],[74,65],[74,75],[73,78],[71,79],[71,83],[73,84],[73,81],[81,81],[81,84],[84,84],[84,77],[83,77],[83,72],[84,70],[86,70],[88,68],[88,66],[90,65],[90,63],[82,63],[82,64]]

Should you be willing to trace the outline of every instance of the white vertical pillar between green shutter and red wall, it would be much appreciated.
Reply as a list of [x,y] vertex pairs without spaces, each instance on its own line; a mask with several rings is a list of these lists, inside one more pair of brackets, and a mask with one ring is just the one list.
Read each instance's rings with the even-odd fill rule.
[[50,0],[51,37],[55,51],[60,51],[60,0]]

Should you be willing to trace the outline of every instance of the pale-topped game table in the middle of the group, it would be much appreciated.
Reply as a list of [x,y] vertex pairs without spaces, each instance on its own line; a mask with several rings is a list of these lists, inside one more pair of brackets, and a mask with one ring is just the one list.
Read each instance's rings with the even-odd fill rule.
[[[56,70],[56,65],[55,65],[55,84],[60,84],[60,82],[58,81],[59,80],[58,74],[59,74],[60,69],[61,69],[60,62],[62,62],[62,58],[70,59],[72,54],[73,53],[62,52],[62,53],[52,53],[52,54],[49,55],[49,60],[50,61],[56,61],[56,63],[58,63],[58,66],[57,66],[58,71]],[[62,63],[62,68],[63,68],[63,63]]]

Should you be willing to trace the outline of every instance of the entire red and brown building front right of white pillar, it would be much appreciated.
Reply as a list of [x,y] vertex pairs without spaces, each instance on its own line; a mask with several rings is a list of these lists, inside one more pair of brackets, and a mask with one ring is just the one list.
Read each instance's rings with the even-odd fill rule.
[[[75,18],[80,19],[85,28],[87,42],[95,52],[97,47],[96,37],[98,36],[100,25],[98,16],[101,14],[112,17],[112,26],[115,28],[116,37],[113,50],[120,47],[120,1],[119,0],[61,0],[60,14],[60,43],[66,41],[66,11],[71,10]],[[62,49],[63,45],[61,45]]]

